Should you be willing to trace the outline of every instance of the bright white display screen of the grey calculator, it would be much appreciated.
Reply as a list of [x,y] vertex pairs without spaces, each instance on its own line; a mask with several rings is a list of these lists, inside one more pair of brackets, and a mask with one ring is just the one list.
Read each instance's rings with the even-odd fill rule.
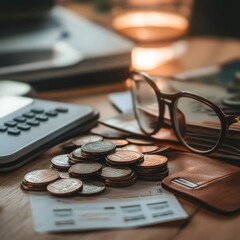
[[33,102],[32,98],[4,96],[0,97],[0,119]]

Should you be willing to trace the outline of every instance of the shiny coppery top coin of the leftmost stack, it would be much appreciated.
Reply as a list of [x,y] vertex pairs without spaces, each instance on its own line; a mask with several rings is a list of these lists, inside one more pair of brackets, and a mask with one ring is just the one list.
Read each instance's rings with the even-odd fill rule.
[[31,185],[47,185],[58,178],[59,173],[51,169],[35,170],[24,176],[24,180]]

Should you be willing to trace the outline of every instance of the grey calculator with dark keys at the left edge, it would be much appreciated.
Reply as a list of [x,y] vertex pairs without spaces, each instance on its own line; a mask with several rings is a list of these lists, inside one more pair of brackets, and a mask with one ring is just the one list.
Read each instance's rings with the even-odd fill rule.
[[89,106],[0,97],[0,172],[14,170],[54,145],[87,132],[98,117]]

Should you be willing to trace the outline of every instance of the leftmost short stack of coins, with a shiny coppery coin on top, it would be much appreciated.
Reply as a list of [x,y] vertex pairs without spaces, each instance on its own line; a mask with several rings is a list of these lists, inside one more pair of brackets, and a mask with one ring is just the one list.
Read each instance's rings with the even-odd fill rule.
[[28,191],[46,191],[47,185],[56,181],[58,178],[59,173],[55,170],[35,170],[24,176],[21,188]]

